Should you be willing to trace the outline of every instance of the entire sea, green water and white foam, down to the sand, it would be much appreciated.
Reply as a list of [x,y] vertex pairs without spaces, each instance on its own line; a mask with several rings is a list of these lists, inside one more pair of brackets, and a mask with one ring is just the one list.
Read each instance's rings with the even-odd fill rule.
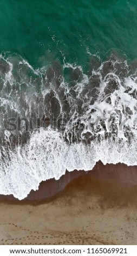
[[135,0],[0,0],[0,193],[137,164]]

